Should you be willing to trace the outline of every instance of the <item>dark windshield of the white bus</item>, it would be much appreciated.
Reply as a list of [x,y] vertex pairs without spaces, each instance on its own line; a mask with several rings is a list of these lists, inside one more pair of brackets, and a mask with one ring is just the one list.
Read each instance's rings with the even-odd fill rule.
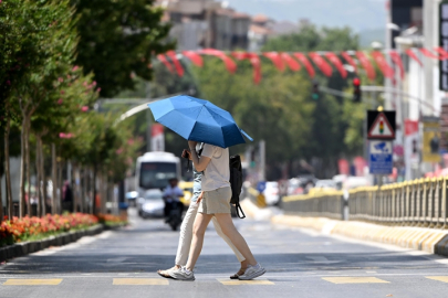
[[176,178],[176,163],[143,162],[139,187],[143,189],[163,189],[168,185],[168,180]]

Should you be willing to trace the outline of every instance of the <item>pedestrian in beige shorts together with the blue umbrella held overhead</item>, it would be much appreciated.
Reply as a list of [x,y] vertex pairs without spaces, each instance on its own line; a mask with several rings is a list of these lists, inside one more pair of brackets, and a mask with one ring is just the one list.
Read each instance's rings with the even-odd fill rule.
[[[249,264],[238,278],[249,280],[263,275],[265,269],[258,264],[230,216],[229,147],[246,142],[242,136],[252,139],[237,126],[228,111],[204,99],[180,95],[149,104],[149,108],[156,121],[188,140],[194,167],[204,172],[202,196],[188,262],[184,267],[169,270],[169,275],[179,280],[195,280],[192,270],[202,249],[206,228],[213,216]],[[198,141],[205,142],[200,158],[196,152]]]

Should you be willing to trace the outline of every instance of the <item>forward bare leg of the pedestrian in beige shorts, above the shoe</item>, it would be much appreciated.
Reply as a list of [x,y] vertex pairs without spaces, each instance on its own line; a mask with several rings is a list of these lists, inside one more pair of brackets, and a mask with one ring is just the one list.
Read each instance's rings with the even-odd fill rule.
[[189,270],[192,270],[195,268],[196,262],[199,258],[200,252],[202,251],[204,236],[212,216],[212,214],[204,213],[198,213],[198,215],[196,215],[195,225],[192,227],[190,254],[188,256],[186,266]]

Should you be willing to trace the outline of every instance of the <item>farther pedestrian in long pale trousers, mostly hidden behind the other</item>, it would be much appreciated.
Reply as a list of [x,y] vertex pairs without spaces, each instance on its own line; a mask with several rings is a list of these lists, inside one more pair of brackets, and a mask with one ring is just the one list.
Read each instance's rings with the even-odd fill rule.
[[[195,155],[200,156],[201,147],[198,145],[196,146]],[[191,153],[189,155],[189,159],[191,160]],[[188,207],[187,213],[184,216],[183,224],[180,226],[180,236],[179,236],[179,246],[177,248],[177,255],[175,260],[175,266],[173,268],[166,270],[158,270],[157,273],[166,278],[170,278],[170,272],[180,269],[183,266],[187,264],[188,254],[190,252],[191,246],[191,238],[192,238],[192,224],[195,222],[196,215],[198,213],[199,203],[197,202],[201,195],[201,179],[202,172],[199,172],[194,167],[194,184],[192,184],[192,198],[190,201],[190,205]],[[199,200],[200,201],[200,200]],[[222,233],[221,226],[219,225],[218,221],[213,217],[212,219],[216,232],[218,235],[226,241],[226,243],[230,246],[233,251],[235,255],[237,256],[238,260],[241,263],[241,267],[239,272],[232,276],[231,279],[237,279],[240,275],[242,275],[248,266],[246,258],[241,255],[240,252],[235,247],[235,245],[230,242],[230,240]]]

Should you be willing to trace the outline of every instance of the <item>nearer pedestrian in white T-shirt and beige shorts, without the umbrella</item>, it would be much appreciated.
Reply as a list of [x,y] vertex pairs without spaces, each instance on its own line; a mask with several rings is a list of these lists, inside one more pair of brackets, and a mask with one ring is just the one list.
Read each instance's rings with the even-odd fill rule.
[[249,280],[265,273],[265,269],[257,263],[248,244],[237,231],[230,216],[230,170],[229,149],[206,143],[200,158],[196,152],[196,141],[188,141],[191,159],[197,171],[202,172],[202,198],[199,201],[199,210],[194,224],[191,248],[187,265],[169,272],[169,276],[179,280],[195,280],[194,268],[200,255],[204,236],[210,221],[216,217],[223,234],[231,241],[236,248],[246,258],[248,266],[238,278]]

